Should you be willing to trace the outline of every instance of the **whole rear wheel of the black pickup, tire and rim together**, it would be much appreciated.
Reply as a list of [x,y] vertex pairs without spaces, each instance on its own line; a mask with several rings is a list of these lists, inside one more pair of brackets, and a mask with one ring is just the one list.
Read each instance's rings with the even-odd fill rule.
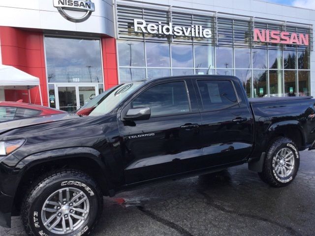
[[300,157],[296,145],[288,138],[275,139],[267,149],[259,177],[273,187],[291,183],[299,169]]

